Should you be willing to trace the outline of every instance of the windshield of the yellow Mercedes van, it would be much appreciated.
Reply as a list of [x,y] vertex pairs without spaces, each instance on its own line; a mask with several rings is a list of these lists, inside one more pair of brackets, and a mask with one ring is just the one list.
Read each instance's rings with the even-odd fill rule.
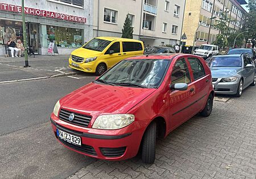
[[102,52],[102,50],[104,50],[106,46],[110,44],[110,42],[111,41],[108,40],[94,38],[90,40],[87,44],[82,46],[82,48]]

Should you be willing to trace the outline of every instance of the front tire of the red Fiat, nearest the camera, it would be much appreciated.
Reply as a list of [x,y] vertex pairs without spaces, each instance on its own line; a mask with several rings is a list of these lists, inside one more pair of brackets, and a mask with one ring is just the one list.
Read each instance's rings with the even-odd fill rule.
[[142,139],[142,161],[152,164],[155,161],[156,148],[156,122],[153,121],[147,127]]

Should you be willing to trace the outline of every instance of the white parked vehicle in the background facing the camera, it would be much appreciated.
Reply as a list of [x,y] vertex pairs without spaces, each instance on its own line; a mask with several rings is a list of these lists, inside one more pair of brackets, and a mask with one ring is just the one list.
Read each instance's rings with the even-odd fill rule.
[[198,49],[194,50],[193,54],[196,56],[201,56],[204,59],[211,57],[213,54],[218,54],[218,46],[210,45],[210,44],[203,44],[199,46]]

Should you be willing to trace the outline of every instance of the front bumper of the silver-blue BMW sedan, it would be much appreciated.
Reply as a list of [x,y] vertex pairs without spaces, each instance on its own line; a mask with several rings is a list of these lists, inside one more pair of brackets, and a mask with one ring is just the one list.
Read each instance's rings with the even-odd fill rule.
[[212,82],[216,94],[235,95],[237,93],[240,78],[235,82],[220,82],[220,80],[221,78],[218,78],[216,82]]

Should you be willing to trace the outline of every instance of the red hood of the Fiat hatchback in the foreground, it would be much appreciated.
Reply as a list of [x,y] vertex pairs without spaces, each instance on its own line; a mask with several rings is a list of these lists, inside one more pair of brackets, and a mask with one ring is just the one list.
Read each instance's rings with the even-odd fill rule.
[[60,100],[61,108],[88,113],[92,116],[107,113],[126,113],[156,88],[110,86],[89,83]]

